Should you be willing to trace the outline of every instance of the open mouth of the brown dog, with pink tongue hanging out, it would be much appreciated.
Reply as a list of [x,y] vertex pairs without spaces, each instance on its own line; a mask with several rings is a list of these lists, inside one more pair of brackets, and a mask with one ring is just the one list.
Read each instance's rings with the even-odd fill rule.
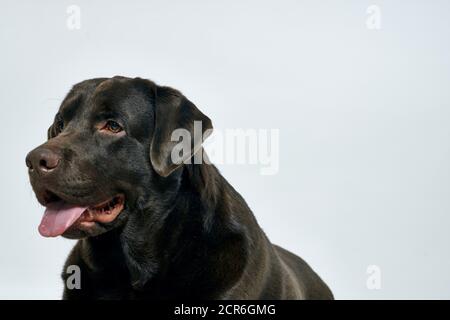
[[46,204],[39,233],[44,237],[57,237],[71,227],[90,228],[96,223],[114,221],[125,206],[125,197],[115,195],[93,206],[70,204],[60,198]]

